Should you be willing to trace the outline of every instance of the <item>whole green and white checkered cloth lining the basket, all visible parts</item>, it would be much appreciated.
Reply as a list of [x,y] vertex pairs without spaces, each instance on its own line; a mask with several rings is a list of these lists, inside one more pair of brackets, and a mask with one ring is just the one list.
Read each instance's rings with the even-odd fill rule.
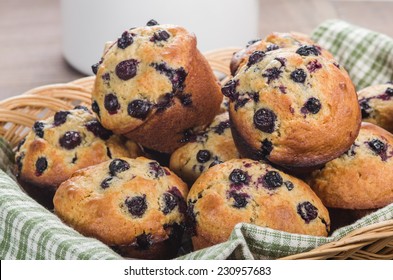
[[[318,26],[312,38],[330,50],[358,89],[393,80],[393,40],[346,22]],[[0,139],[0,259],[121,259],[109,247],[64,225],[27,196],[12,179],[13,153]],[[238,224],[227,242],[179,259],[276,259],[340,240],[355,229],[393,219],[393,204],[329,237],[315,237]],[[186,251],[182,251],[187,253]]]

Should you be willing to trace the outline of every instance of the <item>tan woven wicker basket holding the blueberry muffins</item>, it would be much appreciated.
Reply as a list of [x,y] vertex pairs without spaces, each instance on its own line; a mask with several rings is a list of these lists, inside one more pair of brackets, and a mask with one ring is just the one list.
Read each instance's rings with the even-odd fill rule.
[[[236,50],[227,48],[205,53],[222,83],[230,78],[229,60]],[[86,77],[66,84],[38,87],[0,101],[0,136],[15,147],[36,120],[78,104],[89,106],[93,82],[94,77]],[[393,220],[355,230],[339,241],[283,259],[393,259]]]

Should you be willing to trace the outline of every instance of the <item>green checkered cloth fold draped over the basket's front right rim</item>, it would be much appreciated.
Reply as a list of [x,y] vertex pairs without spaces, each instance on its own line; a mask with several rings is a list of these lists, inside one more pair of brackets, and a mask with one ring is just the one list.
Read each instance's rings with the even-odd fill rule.
[[352,225],[336,230],[330,237],[293,234],[242,223],[235,226],[227,242],[189,253],[178,259],[277,259],[310,251],[323,244],[340,240],[356,229],[390,219],[393,219],[393,203]]

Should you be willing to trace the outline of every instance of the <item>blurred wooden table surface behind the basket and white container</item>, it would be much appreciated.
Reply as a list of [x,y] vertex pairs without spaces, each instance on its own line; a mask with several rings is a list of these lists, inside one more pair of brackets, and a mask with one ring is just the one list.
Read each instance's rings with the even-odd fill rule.
[[[259,33],[309,34],[340,18],[393,37],[393,1],[259,0]],[[62,56],[59,0],[0,0],[0,100],[81,74]]]

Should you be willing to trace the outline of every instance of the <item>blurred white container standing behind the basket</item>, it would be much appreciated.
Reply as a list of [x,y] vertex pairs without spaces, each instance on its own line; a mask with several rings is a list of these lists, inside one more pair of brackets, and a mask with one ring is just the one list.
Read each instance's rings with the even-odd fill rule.
[[245,46],[258,37],[258,0],[61,0],[63,53],[80,72],[92,75],[91,65],[104,44],[124,30],[145,25],[184,26],[195,33],[198,48]]

